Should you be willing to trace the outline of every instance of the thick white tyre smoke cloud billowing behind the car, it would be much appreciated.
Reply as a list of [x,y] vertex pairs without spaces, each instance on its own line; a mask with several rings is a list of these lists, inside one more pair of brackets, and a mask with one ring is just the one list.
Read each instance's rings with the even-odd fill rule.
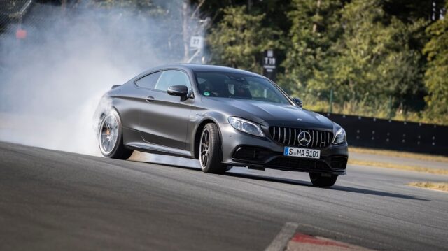
[[100,155],[99,99],[145,69],[183,60],[181,12],[33,8],[24,41],[15,25],[0,38],[0,141]]

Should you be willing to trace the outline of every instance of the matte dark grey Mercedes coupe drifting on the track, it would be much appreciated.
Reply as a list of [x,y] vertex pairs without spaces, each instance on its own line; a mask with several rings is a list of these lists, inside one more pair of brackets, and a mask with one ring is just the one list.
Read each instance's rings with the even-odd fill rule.
[[302,171],[319,187],[346,174],[344,129],[248,71],[160,66],[113,86],[96,116],[105,157],[139,150],[199,159],[207,173],[232,166]]

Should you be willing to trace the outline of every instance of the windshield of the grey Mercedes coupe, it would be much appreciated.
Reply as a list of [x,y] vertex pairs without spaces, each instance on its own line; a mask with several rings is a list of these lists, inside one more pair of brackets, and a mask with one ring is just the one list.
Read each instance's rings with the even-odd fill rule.
[[204,96],[290,103],[286,96],[265,78],[235,73],[204,71],[196,72],[196,80],[198,88]]

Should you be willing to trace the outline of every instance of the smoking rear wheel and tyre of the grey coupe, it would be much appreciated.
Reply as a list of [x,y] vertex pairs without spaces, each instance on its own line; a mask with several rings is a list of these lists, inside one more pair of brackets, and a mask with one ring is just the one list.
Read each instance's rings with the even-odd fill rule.
[[98,143],[102,155],[111,159],[129,159],[134,152],[123,145],[121,120],[116,110],[112,109],[102,116],[98,128]]

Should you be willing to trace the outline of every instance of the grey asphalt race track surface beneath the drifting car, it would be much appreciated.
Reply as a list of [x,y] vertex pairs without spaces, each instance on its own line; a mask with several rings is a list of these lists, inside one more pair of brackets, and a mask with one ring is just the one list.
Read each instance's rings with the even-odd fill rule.
[[0,143],[0,250],[264,250],[297,231],[377,250],[446,250],[447,176],[349,166],[331,189],[306,173],[118,161]]

